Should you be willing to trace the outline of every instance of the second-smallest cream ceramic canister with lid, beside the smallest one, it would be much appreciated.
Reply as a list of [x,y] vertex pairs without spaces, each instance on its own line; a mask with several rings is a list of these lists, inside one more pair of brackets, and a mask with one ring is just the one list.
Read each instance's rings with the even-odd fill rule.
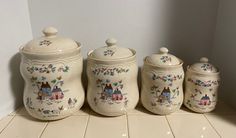
[[165,47],[144,59],[141,101],[147,110],[160,115],[179,110],[183,102],[182,65],[182,60],[169,54]]

